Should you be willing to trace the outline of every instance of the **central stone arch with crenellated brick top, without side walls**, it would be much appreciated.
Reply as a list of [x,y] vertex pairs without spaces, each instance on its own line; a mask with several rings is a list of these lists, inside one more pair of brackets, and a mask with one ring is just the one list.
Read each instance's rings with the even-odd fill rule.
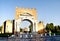
[[15,15],[15,31],[20,32],[19,25],[23,20],[28,20],[32,23],[32,32],[37,31],[37,14],[35,8],[16,8]]

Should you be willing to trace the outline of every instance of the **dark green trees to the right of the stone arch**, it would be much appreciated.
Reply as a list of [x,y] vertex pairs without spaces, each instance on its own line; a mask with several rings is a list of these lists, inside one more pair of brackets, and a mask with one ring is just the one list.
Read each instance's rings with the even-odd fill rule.
[[54,26],[53,23],[46,24],[46,31],[47,32],[50,32],[51,31],[52,34],[55,33],[57,35],[60,35],[60,26],[59,25]]

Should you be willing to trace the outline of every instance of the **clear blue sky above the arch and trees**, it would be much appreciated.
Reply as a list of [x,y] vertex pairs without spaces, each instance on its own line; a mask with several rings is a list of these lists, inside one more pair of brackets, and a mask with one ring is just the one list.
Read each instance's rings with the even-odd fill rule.
[[0,0],[0,25],[15,19],[16,7],[36,8],[38,21],[60,25],[60,0]]

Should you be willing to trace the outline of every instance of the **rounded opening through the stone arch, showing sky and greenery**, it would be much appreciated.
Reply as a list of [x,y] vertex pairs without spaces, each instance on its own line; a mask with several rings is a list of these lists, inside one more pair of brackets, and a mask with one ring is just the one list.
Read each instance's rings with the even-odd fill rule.
[[22,33],[32,33],[33,31],[33,23],[31,20],[24,19],[20,23],[20,32]]

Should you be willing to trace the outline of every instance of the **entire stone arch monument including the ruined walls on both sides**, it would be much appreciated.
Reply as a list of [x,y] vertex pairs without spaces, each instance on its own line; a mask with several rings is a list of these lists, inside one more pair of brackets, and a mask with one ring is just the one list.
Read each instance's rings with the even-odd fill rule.
[[44,29],[43,22],[38,22],[35,8],[16,7],[15,19],[12,22],[10,20],[6,20],[3,23],[2,33],[20,32],[22,21],[29,21],[32,24],[32,32],[38,32],[39,30]]

